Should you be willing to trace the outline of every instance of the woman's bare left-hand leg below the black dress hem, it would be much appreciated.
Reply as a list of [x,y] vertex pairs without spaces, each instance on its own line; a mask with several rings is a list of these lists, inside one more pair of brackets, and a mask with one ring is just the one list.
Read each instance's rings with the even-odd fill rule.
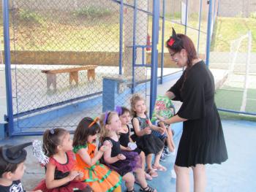
[[189,192],[189,168],[174,166],[176,172],[176,192]]

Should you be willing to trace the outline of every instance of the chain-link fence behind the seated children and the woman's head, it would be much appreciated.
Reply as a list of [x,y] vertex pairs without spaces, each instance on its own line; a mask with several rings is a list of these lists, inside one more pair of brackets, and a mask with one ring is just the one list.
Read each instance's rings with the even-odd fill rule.
[[[10,1],[15,132],[73,130],[132,93],[149,101],[153,2]],[[207,15],[205,1],[160,1],[158,77],[181,71],[165,47],[172,27],[206,54]]]

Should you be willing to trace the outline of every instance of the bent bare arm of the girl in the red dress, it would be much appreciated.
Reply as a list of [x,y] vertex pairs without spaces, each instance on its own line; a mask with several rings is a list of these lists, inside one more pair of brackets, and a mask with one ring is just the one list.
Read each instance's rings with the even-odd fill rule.
[[48,189],[51,188],[58,188],[61,185],[64,185],[66,183],[69,183],[69,181],[72,181],[79,175],[79,172],[77,171],[71,171],[67,177],[64,177],[61,180],[54,180],[54,172],[55,172],[56,166],[53,164],[48,164],[45,174],[45,184]]

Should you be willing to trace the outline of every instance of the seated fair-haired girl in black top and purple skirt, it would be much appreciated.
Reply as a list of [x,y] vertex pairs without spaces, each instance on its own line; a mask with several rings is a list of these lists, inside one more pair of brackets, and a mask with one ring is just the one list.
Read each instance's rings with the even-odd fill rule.
[[145,172],[141,169],[141,160],[138,153],[121,151],[120,142],[116,131],[121,129],[121,120],[116,112],[105,112],[100,120],[100,142],[101,145],[109,146],[104,152],[103,163],[110,169],[115,170],[123,176],[127,191],[134,191],[135,172],[140,191],[156,192],[146,183]]

